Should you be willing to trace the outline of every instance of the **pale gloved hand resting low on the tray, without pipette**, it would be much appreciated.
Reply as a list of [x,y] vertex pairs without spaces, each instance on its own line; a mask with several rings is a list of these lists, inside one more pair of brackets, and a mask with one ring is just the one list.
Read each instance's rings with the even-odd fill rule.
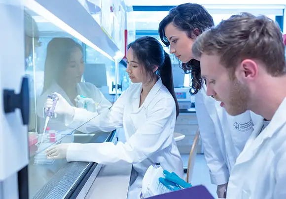
[[48,159],[66,159],[70,143],[62,143],[45,150]]

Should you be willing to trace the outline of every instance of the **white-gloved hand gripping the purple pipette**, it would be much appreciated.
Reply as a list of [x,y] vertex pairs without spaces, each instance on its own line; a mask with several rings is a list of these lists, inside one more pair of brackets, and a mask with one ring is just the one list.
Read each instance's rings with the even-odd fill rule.
[[[74,115],[74,109],[73,107],[67,102],[67,100],[59,93],[54,92],[53,94],[58,96],[58,101],[55,107],[55,114],[62,114],[65,116],[73,117]],[[44,109],[45,112],[47,112],[48,108],[52,107],[53,101],[52,99],[47,99]]]

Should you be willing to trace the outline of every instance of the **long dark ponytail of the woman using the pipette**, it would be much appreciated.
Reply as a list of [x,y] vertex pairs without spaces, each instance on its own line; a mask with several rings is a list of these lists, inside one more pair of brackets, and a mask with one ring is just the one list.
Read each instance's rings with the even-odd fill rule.
[[161,77],[163,85],[169,90],[176,103],[177,117],[179,115],[179,104],[174,90],[173,72],[171,58],[166,51],[164,51],[165,59],[161,67],[159,67],[158,74]]

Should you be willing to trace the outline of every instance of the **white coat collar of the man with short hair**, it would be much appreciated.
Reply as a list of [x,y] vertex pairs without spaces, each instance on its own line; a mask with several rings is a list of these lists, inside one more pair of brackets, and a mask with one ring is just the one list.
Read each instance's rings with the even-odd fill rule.
[[270,139],[275,133],[277,133],[279,128],[286,124],[285,110],[286,98],[279,106],[268,126],[261,133],[260,131],[263,127],[263,120],[255,125],[254,131],[250,135],[250,138],[245,146],[245,150],[243,150],[238,157],[236,164],[249,161],[253,156],[255,156],[259,148],[262,147],[263,142]]

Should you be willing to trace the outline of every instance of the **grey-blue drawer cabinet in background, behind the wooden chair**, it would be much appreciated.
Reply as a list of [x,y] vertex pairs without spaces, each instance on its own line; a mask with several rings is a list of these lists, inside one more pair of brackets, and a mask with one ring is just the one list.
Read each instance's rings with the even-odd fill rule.
[[[198,127],[199,125],[195,108],[180,110],[175,125],[175,132],[185,135],[184,139],[177,142],[180,154],[190,153]],[[199,140],[197,153],[203,153],[201,140]]]

